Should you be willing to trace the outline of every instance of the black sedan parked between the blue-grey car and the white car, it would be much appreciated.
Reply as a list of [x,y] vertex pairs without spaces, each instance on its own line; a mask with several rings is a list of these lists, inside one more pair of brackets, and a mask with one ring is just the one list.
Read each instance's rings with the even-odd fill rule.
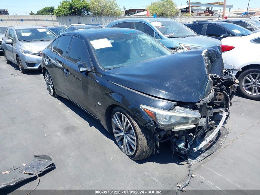
[[226,37],[252,34],[252,31],[228,22],[198,22],[185,25],[199,35],[205,35],[219,40]]

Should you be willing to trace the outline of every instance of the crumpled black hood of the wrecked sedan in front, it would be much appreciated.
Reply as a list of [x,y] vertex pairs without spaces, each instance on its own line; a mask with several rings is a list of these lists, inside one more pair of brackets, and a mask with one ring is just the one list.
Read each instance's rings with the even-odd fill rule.
[[218,47],[167,55],[105,72],[113,83],[158,98],[198,102],[212,88],[208,74],[222,75],[223,60]]

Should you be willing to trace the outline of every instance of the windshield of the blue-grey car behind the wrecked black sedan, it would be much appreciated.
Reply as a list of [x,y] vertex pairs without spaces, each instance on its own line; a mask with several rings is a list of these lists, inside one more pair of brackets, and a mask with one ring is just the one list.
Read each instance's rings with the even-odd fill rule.
[[151,24],[166,37],[183,38],[189,36],[199,36],[187,26],[174,20],[155,21],[151,22]]

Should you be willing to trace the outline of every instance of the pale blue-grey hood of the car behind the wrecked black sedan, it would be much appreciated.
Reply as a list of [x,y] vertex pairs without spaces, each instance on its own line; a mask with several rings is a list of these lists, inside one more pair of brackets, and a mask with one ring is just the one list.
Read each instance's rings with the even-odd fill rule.
[[211,37],[206,37],[203,35],[197,37],[185,37],[185,38],[169,38],[173,42],[182,43],[186,45],[194,45],[200,47],[211,47],[214,45],[220,45],[221,41]]

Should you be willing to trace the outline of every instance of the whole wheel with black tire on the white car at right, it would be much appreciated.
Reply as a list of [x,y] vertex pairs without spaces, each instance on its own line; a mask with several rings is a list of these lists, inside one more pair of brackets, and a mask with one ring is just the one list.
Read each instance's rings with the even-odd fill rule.
[[260,68],[243,71],[238,80],[238,90],[242,95],[252,100],[260,100]]

